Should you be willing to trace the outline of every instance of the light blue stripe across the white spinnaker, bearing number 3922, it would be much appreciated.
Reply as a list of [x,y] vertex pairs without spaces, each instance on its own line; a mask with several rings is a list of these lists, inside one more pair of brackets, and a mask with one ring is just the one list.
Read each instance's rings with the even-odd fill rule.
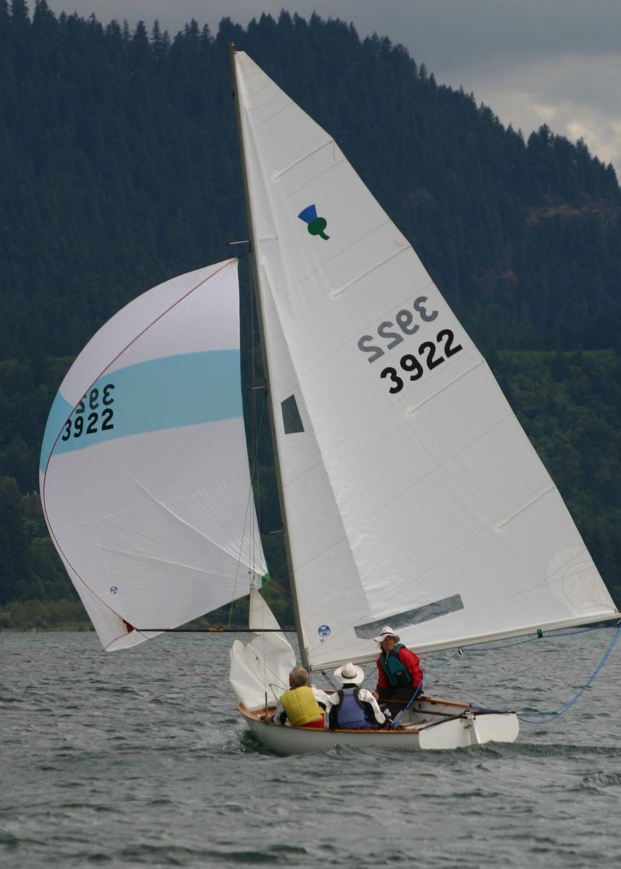
[[120,368],[99,378],[84,398],[83,413],[75,410],[67,425],[70,410],[58,393],[45,428],[42,471],[52,449],[68,453],[133,434],[241,417],[239,350],[164,356]]

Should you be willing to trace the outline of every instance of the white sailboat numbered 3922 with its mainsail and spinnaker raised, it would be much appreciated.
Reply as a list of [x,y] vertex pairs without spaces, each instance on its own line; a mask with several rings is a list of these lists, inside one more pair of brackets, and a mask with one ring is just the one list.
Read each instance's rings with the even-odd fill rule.
[[[618,618],[491,370],[331,136],[231,49],[252,269],[300,657],[377,658]],[[164,282],[97,332],[41,455],[45,519],[105,649],[250,593],[239,712],[279,753],[517,739],[421,696],[386,731],[270,723],[295,655],[260,588],[237,262]]]

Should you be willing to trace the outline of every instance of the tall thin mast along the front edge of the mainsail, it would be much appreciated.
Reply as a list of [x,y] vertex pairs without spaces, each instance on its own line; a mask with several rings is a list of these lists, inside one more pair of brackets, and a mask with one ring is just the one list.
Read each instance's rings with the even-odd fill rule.
[[244,202],[246,206],[246,218],[248,221],[248,232],[250,239],[250,269],[252,271],[252,280],[254,282],[257,291],[255,293],[255,299],[257,302],[257,314],[258,314],[258,327],[259,327],[259,340],[261,342],[261,356],[263,359],[263,367],[264,367],[264,377],[265,377],[265,388],[267,392],[267,408],[268,415],[270,418],[270,434],[271,434],[271,446],[274,452],[274,465],[276,469],[276,480],[277,480],[277,489],[278,489],[278,503],[280,505],[280,514],[283,519],[283,533],[284,533],[284,549],[287,557],[287,569],[289,570],[289,583],[291,589],[291,599],[293,601],[293,615],[296,622],[296,634],[297,634],[297,642],[300,647],[300,659],[302,660],[303,667],[309,669],[309,659],[308,653],[306,651],[306,647],[304,646],[304,637],[302,634],[302,625],[300,621],[300,613],[299,607],[297,603],[297,591],[296,591],[296,580],[293,572],[293,561],[291,559],[291,550],[290,550],[290,541],[289,541],[289,530],[287,527],[287,514],[284,507],[284,492],[283,492],[283,481],[280,474],[280,461],[278,459],[278,443],[276,437],[276,421],[274,418],[274,409],[271,403],[271,393],[270,393],[270,369],[268,368],[267,362],[267,352],[265,349],[265,329],[264,329],[264,312],[263,312],[263,304],[261,300],[261,289],[259,285],[259,277],[258,277],[258,266],[257,266],[257,251],[255,248],[255,226],[254,221],[252,219],[252,211],[250,209],[250,189],[248,186],[248,174],[246,169],[246,154],[244,149],[244,135],[242,132],[242,111],[239,104],[239,98],[237,96],[237,69],[235,66],[235,44],[229,43],[229,57],[230,57],[230,77],[233,83],[233,102],[235,103],[235,117],[237,121],[237,139],[239,142],[239,153],[242,158],[242,175],[244,177]]

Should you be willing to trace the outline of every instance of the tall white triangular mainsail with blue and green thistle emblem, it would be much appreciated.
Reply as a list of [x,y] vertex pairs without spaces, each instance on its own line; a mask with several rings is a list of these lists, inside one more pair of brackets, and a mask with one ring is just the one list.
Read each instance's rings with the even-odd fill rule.
[[610,618],[549,474],[337,144],[243,52],[237,91],[301,644],[369,660]]

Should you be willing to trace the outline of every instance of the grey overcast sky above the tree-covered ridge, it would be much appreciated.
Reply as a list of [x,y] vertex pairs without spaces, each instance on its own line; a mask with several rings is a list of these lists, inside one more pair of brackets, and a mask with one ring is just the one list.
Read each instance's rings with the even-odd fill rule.
[[[472,91],[524,136],[542,123],[613,163],[621,178],[621,0],[47,0],[102,23],[157,18],[171,35],[195,18],[217,30],[285,8],[351,21],[403,43],[439,83]],[[30,0],[34,6],[34,0]]]

